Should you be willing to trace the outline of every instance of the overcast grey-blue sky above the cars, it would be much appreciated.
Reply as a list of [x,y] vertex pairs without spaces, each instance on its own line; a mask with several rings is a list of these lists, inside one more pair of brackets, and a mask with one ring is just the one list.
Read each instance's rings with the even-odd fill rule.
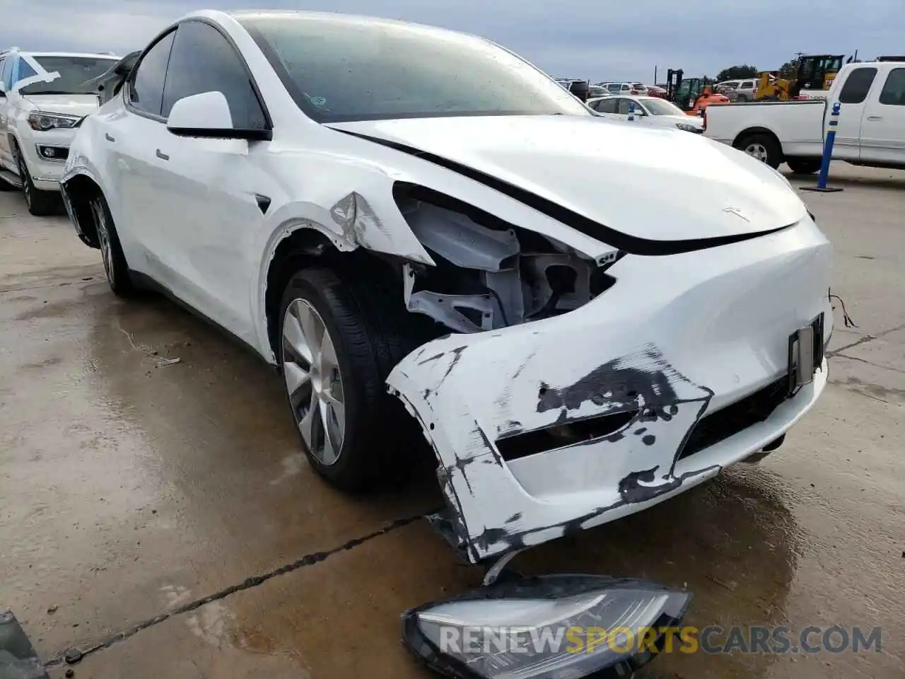
[[[0,49],[129,53],[194,9],[224,0],[4,0]],[[376,14],[477,33],[554,76],[653,81],[667,68],[710,76],[750,63],[776,69],[795,52],[905,53],[905,0],[249,0],[244,8]]]

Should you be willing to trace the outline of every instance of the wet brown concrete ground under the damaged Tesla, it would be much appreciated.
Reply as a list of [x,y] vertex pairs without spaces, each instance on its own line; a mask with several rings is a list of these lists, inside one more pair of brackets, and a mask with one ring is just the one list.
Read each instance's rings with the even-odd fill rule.
[[[837,312],[814,411],[761,464],[515,565],[687,585],[694,626],[881,626],[881,651],[663,655],[652,675],[905,675],[905,173],[834,177],[803,196],[859,328]],[[270,368],[169,301],[117,300],[64,218],[0,194],[0,608],[54,679],[428,676],[399,614],[482,575],[416,518],[434,486],[331,490]]]

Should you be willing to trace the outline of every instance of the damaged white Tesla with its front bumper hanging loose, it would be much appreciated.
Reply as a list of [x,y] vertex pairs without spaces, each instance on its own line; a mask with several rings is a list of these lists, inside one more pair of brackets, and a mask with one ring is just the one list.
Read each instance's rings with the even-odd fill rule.
[[596,120],[471,35],[188,14],[62,191],[113,292],[149,282],[281,369],[329,483],[435,454],[431,521],[473,563],[774,450],[826,384],[832,246],[785,177]]

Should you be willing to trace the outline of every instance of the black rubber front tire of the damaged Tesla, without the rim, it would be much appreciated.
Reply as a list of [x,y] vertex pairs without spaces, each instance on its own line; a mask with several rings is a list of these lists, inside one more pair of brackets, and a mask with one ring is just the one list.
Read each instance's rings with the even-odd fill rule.
[[345,404],[344,433],[335,462],[324,464],[305,443],[301,414],[292,405],[288,388],[287,403],[311,466],[332,485],[351,492],[371,490],[393,477],[404,479],[412,468],[414,451],[425,447],[414,418],[386,393],[385,385],[395,364],[421,341],[412,330],[411,314],[402,306],[401,290],[385,290],[370,279],[362,273],[340,278],[320,266],[303,269],[286,286],[277,319],[281,371],[286,359],[284,324],[291,303],[307,302],[329,332]]

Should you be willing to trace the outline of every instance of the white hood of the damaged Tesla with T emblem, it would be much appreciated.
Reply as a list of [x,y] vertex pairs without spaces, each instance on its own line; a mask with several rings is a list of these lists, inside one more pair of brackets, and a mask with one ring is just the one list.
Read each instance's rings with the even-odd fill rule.
[[756,234],[806,215],[775,170],[724,144],[672,129],[592,116],[369,120],[329,127],[410,154],[430,154],[434,162],[452,161],[445,164],[453,171],[478,170],[644,239]]

